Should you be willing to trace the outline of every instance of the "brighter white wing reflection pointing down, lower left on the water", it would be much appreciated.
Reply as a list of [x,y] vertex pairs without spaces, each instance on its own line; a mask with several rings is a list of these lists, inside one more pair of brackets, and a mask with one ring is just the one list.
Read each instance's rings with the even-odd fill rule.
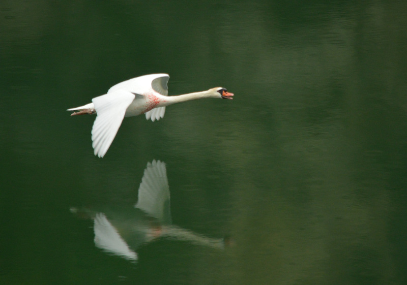
[[137,260],[136,252],[132,251],[119,235],[118,231],[110,224],[105,214],[97,213],[94,224],[95,244],[112,254],[129,260]]

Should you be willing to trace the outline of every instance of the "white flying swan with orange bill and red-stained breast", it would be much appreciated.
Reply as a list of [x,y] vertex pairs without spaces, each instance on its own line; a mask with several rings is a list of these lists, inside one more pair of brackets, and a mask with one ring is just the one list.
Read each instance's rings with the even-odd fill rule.
[[171,104],[202,99],[232,100],[233,93],[223,87],[168,97],[165,73],[143,75],[112,86],[106,94],[92,99],[92,103],[68,109],[71,116],[97,114],[92,127],[92,146],[95,155],[103,157],[119,131],[124,117],[146,114],[153,122],[164,117],[165,107]]

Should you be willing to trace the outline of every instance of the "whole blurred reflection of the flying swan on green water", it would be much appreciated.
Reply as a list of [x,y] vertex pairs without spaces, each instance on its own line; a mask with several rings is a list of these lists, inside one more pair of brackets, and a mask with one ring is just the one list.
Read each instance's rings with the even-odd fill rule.
[[159,237],[223,249],[229,239],[205,237],[171,224],[169,188],[165,164],[147,164],[133,207],[103,212],[71,208],[72,213],[94,220],[95,245],[110,254],[137,260],[136,249]]

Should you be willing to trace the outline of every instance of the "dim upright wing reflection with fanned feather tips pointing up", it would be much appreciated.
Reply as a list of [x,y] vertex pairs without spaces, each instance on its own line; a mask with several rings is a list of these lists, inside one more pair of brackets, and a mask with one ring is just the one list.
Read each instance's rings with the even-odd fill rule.
[[134,206],[163,223],[171,223],[169,188],[165,164],[153,161],[147,164],[138,188],[138,200]]

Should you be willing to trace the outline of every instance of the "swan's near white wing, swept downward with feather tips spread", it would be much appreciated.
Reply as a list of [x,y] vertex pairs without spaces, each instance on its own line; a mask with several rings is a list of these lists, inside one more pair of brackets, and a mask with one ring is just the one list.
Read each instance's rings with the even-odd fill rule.
[[119,131],[127,107],[133,102],[135,95],[129,91],[118,89],[92,99],[97,117],[92,128],[92,146],[95,155],[103,157]]

